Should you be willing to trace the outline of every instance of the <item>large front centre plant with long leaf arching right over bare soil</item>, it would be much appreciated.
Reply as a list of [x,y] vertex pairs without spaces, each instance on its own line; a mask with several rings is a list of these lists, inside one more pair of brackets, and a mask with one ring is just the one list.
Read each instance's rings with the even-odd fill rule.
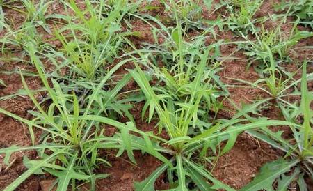
[[[197,74],[188,84],[190,94],[184,100],[174,101],[171,96],[163,93],[163,91],[158,91],[157,87],[151,87],[145,73],[138,66],[136,70],[129,71],[145,94],[146,102],[143,113],[148,109],[149,121],[152,120],[154,112],[157,114],[159,130],[164,128],[170,137],[164,146],[170,149],[169,153],[172,155],[170,163],[159,167],[145,181],[135,183],[136,190],[152,190],[154,181],[166,169],[171,188],[177,190],[188,190],[187,182],[189,181],[195,183],[195,186],[200,190],[207,190],[208,188],[232,190],[211,176],[210,172],[202,165],[198,165],[200,158],[207,157],[207,149],[211,148],[216,151],[216,146],[220,142],[227,141],[219,153],[222,155],[234,146],[237,135],[243,130],[273,124],[291,124],[285,121],[266,121],[264,119],[258,119],[255,123],[245,125],[240,124],[240,122],[245,121],[244,119],[211,121],[211,123],[201,122],[198,119],[200,100],[204,95],[209,95],[212,92],[208,86],[209,82],[202,81],[209,58],[209,50],[211,47],[208,47],[204,54],[200,54],[201,61],[198,65]],[[197,135],[190,134],[203,123],[204,130],[200,130]],[[207,158],[209,160],[210,157]],[[177,177],[177,181],[174,177]]]

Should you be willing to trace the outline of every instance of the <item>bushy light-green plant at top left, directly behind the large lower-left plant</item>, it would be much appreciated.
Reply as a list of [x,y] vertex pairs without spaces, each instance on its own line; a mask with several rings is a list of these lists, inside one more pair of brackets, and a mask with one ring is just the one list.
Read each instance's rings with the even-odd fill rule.
[[[131,33],[120,33],[125,12],[122,11],[122,1],[118,1],[109,13],[102,13],[105,8],[104,1],[93,4],[86,1],[86,10],[80,10],[74,1],[65,3],[75,15],[70,17],[67,13],[68,24],[56,32],[56,37],[63,44],[65,62],[81,77],[95,79],[97,72],[103,67],[113,63],[118,56],[123,36]],[[90,17],[86,18],[88,14]],[[74,22],[79,20],[80,22]],[[70,36],[63,35],[63,31],[70,30]],[[80,35],[77,36],[77,33]],[[69,37],[70,40],[67,40]],[[63,58],[64,59],[64,58]]]

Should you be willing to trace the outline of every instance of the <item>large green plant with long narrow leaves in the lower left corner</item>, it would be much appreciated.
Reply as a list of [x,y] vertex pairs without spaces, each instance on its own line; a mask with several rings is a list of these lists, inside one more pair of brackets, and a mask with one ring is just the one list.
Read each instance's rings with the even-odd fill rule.
[[[56,82],[56,79],[51,79],[53,87],[49,85],[47,75],[45,75],[42,63],[36,55],[36,50],[33,46],[29,47],[29,55],[48,92],[51,105],[47,109],[42,107],[36,100],[35,95],[33,95],[33,91],[27,86],[23,75],[21,75],[24,88],[37,109],[29,111],[33,119],[23,119],[0,108],[1,113],[28,125],[33,143],[33,146],[29,147],[10,146],[9,148],[1,148],[0,153],[6,154],[5,164],[9,164],[10,155],[17,151],[36,150],[40,157],[39,160],[29,160],[25,156],[24,165],[28,170],[8,185],[5,190],[15,190],[31,174],[44,174],[45,172],[56,176],[57,190],[66,190],[69,185],[71,185],[72,189],[76,188],[79,186],[76,180],[90,182],[91,189],[95,190],[95,180],[108,176],[108,174],[95,174],[95,169],[98,165],[102,163],[109,165],[106,160],[98,155],[99,149],[119,149],[118,155],[121,155],[126,150],[129,158],[135,162],[132,150],[138,146],[136,147],[136,144],[131,143],[136,137],[130,139],[129,131],[138,132],[140,135],[145,136],[144,146],[139,144],[142,150],[145,149],[145,144],[152,146],[149,137],[154,136],[147,132],[136,130],[134,123],[120,123],[101,116],[104,109],[108,109],[107,107],[112,104],[111,102],[117,93],[128,82],[130,79],[129,75],[125,76],[111,91],[107,92],[109,96],[106,97],[105,102],[102,102],[101,109],[95,110],[94,108],[93,103],[99,101],[97,96],[102,95],[103,86],[110,79],[111,75],[126,63],[125,61],[114,66],[101,80],[93,93],[88,95],[86,98],[88,102],[81,105],[80,98],[77,97],[74,91],[71,93],[64,92],[63,88]],[[117,133],[115,137],[106,137],[103,135],[105,128],[101,128],[100,123],[113,125],[120,130],[120,133]],[[33,128],[43,130],[40,140],[35,140]],[[160,138],[156,137],[156,139]],[[40,144],[36,145],[36,142],[40,142]],[[149,149],[146,150],[147,153],[150,153]],[[153,150],[151,152],[157,157],[157,151]]]

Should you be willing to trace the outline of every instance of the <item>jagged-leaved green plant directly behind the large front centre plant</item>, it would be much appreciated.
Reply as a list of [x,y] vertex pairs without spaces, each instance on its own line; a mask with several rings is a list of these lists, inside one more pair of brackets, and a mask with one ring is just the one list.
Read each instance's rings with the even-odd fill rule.
[[[157,22],[151,17],[147,17],[152,22]],[[140,59],[132,56],[136,61],[147,63],[145,66],[154,72],[154,76],[159,80],[158,83],[165,82],[165,89],[172,98],[184,99],[185,95],[190,95],[190,87],[188,83],[193,79],[198,71],[198,64],[201,62],[200,52],[205,49],[205,36],[200,35],[196,38],[186,40],[188,36],[184,33],[182,24],[177,20],[176,27],[166,27],[160,22],[158,23],[161,29],[155,29],[156,37],[160,34],[164,38],[163,43],[152,45],[144,43],[144,49],[135,50],[126,54],[138,54]],[[220,82],[217,75],[221,69],[218,68],[223,58],[220,57],[220,45],[223,45],[223,40],[210,45],[213,55],[211,62],[213,63],[210,72],[207,72],[202,78],[203,81],[211,80],[211,84],[222,89],[223,93],[227,93],[227,89]],[[161,66],[160,66],[161,63]]]

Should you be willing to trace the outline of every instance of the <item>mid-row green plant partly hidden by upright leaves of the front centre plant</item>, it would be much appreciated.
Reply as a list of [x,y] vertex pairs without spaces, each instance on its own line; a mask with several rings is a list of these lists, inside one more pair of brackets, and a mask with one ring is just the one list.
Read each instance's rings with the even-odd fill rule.
[[[175,101],[182,101],[191,95],[191,80],[194,79],[198,72],[198,66],[201,63],[201,54],[204,47],[204,36],[198,36],[190,41],[184,40],[182,26],[177,22],[175,28],[166,29],[160,24],[161,29],[158,32],[163,33],[164,42],[160,45],[145,44],[145,49],[134,50],[131,54],[139,54],[140,59],[133,56],[136,62],[145,64],[149,68],[148,72],[153,73],[153,77],[157,82],[157,89],[166,93]],[[219,68],[223,62],[220,56],[219,46],[223,44],[222,40],[210,45],[212,49],[211,63],[209,70],[202,76],[202,81],[207,82],[207,88],[211,89],[211,93],[203,95],[199,105],[200,113],[218,112],[221,103],[218,98],[227,95],[228,91],[220,81],[217,73],[222,70]],[[131,56],[127,54],[127,56]],[[218,61],[218,59],[222,61]],[[163,66],[159,66],[159,64]],[[163,85],[160,85],[163,84]],[[144,113],[143,113],[144,114]],[[207,116],[203,116],[207,121]]]

